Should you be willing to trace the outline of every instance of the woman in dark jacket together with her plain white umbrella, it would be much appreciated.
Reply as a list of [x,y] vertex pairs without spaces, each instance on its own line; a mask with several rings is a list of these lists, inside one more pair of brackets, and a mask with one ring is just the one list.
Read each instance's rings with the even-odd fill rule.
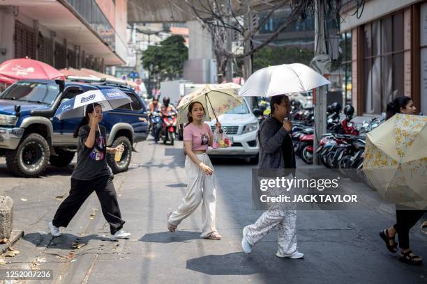
[[[295,154],[290,132],[290,100],[287,93],[307,92],[318,86],[330,84],[322,75],[308,66],[294,63],[263,68],[252,74],[239,90],[239,96],[271,97],[271,115],[260,127],[260,170],[280,170],[295,168]],[[289,171],[287,171],[289,172]],[[289,175],[288,175],[289,176]],[[289,176],[290,177],[290,176]],[[291,178],[291,177],[290,177]],[[271,188],[271,196],[280,196],[283,192]],[[297,211],[294,206],[284,203],[269,204],[269,209],[253,224],[243,230],[241,246],[245,253],[251,253],[252,247],[272,228],[278,229],[279,258],[303,258],[297,251],[296,232]]]

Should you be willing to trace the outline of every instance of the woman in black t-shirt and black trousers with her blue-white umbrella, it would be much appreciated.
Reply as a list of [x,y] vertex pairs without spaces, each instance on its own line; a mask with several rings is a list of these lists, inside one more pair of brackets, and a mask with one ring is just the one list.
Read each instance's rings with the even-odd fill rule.
[[[94,101],[98,97],[98,102]],[[103,108],[114,109],[130,98],[120,90],[106,90],[103,93],[83,93],[73,100],[63,102],[55,114],[58,118],[79,116],[84,111],[84,117],[74,132],[78,138],[77,164],[71,175],[71,189],[68,197],[63,200],[53,220],[48,224],[51,234],[59,237],[59,227],[66,227],[73,219],[84,201],[96,192],[101,209],[110,224],[111,239],[125,239],[130,236],[123,230],[125,221],[121,219],[119,202],[112,182],[114,176],[107,164],[107,153],[123,152],[123,145],[109,148],[106,145],[106,129],[99,123],[103,120]],[[84,104],[86,103],[86,104]]]

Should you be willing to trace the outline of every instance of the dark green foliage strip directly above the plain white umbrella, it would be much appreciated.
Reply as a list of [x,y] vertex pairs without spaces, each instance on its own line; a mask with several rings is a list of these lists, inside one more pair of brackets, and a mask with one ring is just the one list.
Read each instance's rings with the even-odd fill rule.
[[253,72],[270,65],[303,63],[310,65],[314,51],[299,47],[263,47],[253,56]]

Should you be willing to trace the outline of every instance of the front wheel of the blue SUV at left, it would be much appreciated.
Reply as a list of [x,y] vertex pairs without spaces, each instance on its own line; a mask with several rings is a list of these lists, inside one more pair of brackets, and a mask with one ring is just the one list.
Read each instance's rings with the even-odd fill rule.
[[6,164],[14,175],[36,178],[45,171],[49,157],[46,139],[40,134],[31,133],[22,138],[16,150],[6,151]]

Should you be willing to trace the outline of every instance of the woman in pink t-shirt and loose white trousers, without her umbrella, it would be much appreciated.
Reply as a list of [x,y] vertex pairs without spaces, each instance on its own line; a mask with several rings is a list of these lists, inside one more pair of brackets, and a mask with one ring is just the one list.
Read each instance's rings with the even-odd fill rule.
[[[208,145],[212,145],[212,130],[203,123],[204,108],[200,102],[192,102],[188,107],[188,122],[183,129],[186,150],[186,173],[188,178],[186,196],[174,212],[167,214],[167,229],[174,232],[183,219],[190,216],[202,203],[202,234],[205,239],[221,239],[216,231],[216,190],[213,182],[213,166],[207,155]],[[220,123],[216,123],[220,127]]]

